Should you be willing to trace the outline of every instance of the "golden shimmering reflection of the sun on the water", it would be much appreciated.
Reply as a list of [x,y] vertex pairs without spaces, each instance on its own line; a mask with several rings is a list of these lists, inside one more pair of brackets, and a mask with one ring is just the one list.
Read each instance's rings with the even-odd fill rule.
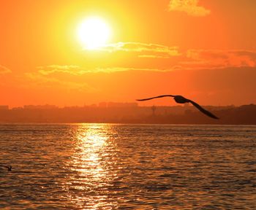
[[[69,166],[76,176],[70,177],[69,184],[72,185],[72,202],[80,204],[79,208],[117,206],[116,201],[108,199],[110,193],[106,193],[117,176],[113,170],[116,145],[110,138],[114,133],[112,129],[105,124],[87,124],[79,125],[75,131],[75,148]],[[75,191],[78,192],[74,194]]]

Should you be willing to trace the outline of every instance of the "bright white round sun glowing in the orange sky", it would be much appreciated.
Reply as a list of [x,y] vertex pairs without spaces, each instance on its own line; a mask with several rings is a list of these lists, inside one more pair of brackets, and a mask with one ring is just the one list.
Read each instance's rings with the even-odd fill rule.
[[96,50],[106,44],[110,38],[110,32],[110,27],[104,20],[91,17],[83,20],[78,26],[78,39],[86,49]]

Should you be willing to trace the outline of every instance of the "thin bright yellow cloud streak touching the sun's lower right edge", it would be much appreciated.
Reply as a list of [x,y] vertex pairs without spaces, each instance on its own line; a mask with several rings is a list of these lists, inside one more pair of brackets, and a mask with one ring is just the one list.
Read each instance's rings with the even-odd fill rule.
[[147,44],[140,42],[118,42],[106,44],[97,49],[103,52],[136,52],[140,58],[169,58],[178,56],[178,47],[167,47],[161,44]]

